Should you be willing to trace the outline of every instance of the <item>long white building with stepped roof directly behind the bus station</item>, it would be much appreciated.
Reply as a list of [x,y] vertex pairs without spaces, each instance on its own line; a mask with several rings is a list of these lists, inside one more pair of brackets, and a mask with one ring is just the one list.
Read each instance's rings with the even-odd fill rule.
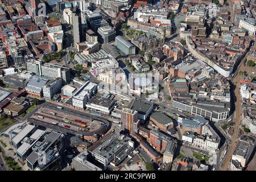
[[72,104],[76,109],[85,109],[85,105],[97,92],[97,84],[86,81],[72,96]]

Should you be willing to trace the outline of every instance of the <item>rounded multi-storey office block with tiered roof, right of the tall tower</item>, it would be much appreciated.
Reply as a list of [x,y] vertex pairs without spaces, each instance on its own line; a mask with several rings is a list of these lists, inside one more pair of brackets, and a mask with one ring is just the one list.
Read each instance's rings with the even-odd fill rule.
[[115,40],[115,30],[110,26],[98,28],[99,42],[110,43]]

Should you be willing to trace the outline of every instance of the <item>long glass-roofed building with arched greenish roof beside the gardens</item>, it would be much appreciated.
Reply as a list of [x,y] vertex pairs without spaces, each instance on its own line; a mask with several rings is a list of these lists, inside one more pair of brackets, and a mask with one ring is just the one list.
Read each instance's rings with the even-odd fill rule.
[[135,55],[135,46],[129,41],[125,40],[122,36],[118,35],[115,37],[115,46],[121,51],[124,55]]

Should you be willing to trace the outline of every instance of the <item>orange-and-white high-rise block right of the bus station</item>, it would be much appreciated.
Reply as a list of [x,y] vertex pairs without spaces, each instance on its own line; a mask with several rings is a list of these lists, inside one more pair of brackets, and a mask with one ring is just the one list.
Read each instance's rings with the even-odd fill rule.
[[122,130],[128,130],[130,135],[138,132],[138,111],[123,108],[121,110]]

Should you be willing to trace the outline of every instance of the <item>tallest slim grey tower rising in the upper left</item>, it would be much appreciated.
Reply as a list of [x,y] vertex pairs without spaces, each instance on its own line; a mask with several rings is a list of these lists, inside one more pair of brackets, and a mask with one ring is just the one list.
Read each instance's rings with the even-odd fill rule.
[[80,43],[82,39],[81,14],[73,13],[73,38],[74,44]]

